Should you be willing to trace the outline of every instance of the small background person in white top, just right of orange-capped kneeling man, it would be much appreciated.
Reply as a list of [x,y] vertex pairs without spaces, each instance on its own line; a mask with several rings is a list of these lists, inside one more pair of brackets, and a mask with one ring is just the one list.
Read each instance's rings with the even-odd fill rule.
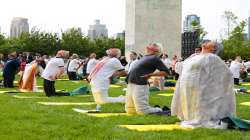
[[81,67],[82,63],[78,60],[78,55],[77,54],[73,54],[71,56],[69,65],[68,65],[68,77],[69,80],[77,80],[77,70]]

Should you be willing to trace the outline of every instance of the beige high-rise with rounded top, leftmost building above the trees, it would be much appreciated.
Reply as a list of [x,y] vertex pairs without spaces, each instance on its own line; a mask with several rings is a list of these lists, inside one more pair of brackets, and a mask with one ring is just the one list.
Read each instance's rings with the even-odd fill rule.
[[29,32],[28,19],[22,17],[13,18],[10,27],[10,37],[18,37],[23,32]]

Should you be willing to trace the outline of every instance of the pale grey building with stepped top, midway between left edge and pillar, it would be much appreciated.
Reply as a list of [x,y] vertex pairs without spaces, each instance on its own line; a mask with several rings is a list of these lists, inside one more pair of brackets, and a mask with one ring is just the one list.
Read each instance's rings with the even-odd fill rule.
[[88,37],[90,39],[108,37],[106,25],[100,24],[100,20],[95,20],[94,25],[89,25]]

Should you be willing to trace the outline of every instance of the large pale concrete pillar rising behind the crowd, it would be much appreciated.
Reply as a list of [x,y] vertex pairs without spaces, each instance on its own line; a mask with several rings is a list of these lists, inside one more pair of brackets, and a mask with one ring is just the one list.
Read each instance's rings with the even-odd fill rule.
[[150,42],[181,55],[181,0],[126,0],[126,56],[145,52]]

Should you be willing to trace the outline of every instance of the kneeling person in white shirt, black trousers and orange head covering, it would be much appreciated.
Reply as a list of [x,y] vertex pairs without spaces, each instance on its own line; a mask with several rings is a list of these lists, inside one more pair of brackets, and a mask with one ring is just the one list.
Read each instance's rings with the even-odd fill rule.
[[68,58],[69,52],[60,50],[56,57],[50,59],[43,71],[42,78],[44,78],[43,88],[46,96],[55,96],[55,81],[64,73],[64,60]]

